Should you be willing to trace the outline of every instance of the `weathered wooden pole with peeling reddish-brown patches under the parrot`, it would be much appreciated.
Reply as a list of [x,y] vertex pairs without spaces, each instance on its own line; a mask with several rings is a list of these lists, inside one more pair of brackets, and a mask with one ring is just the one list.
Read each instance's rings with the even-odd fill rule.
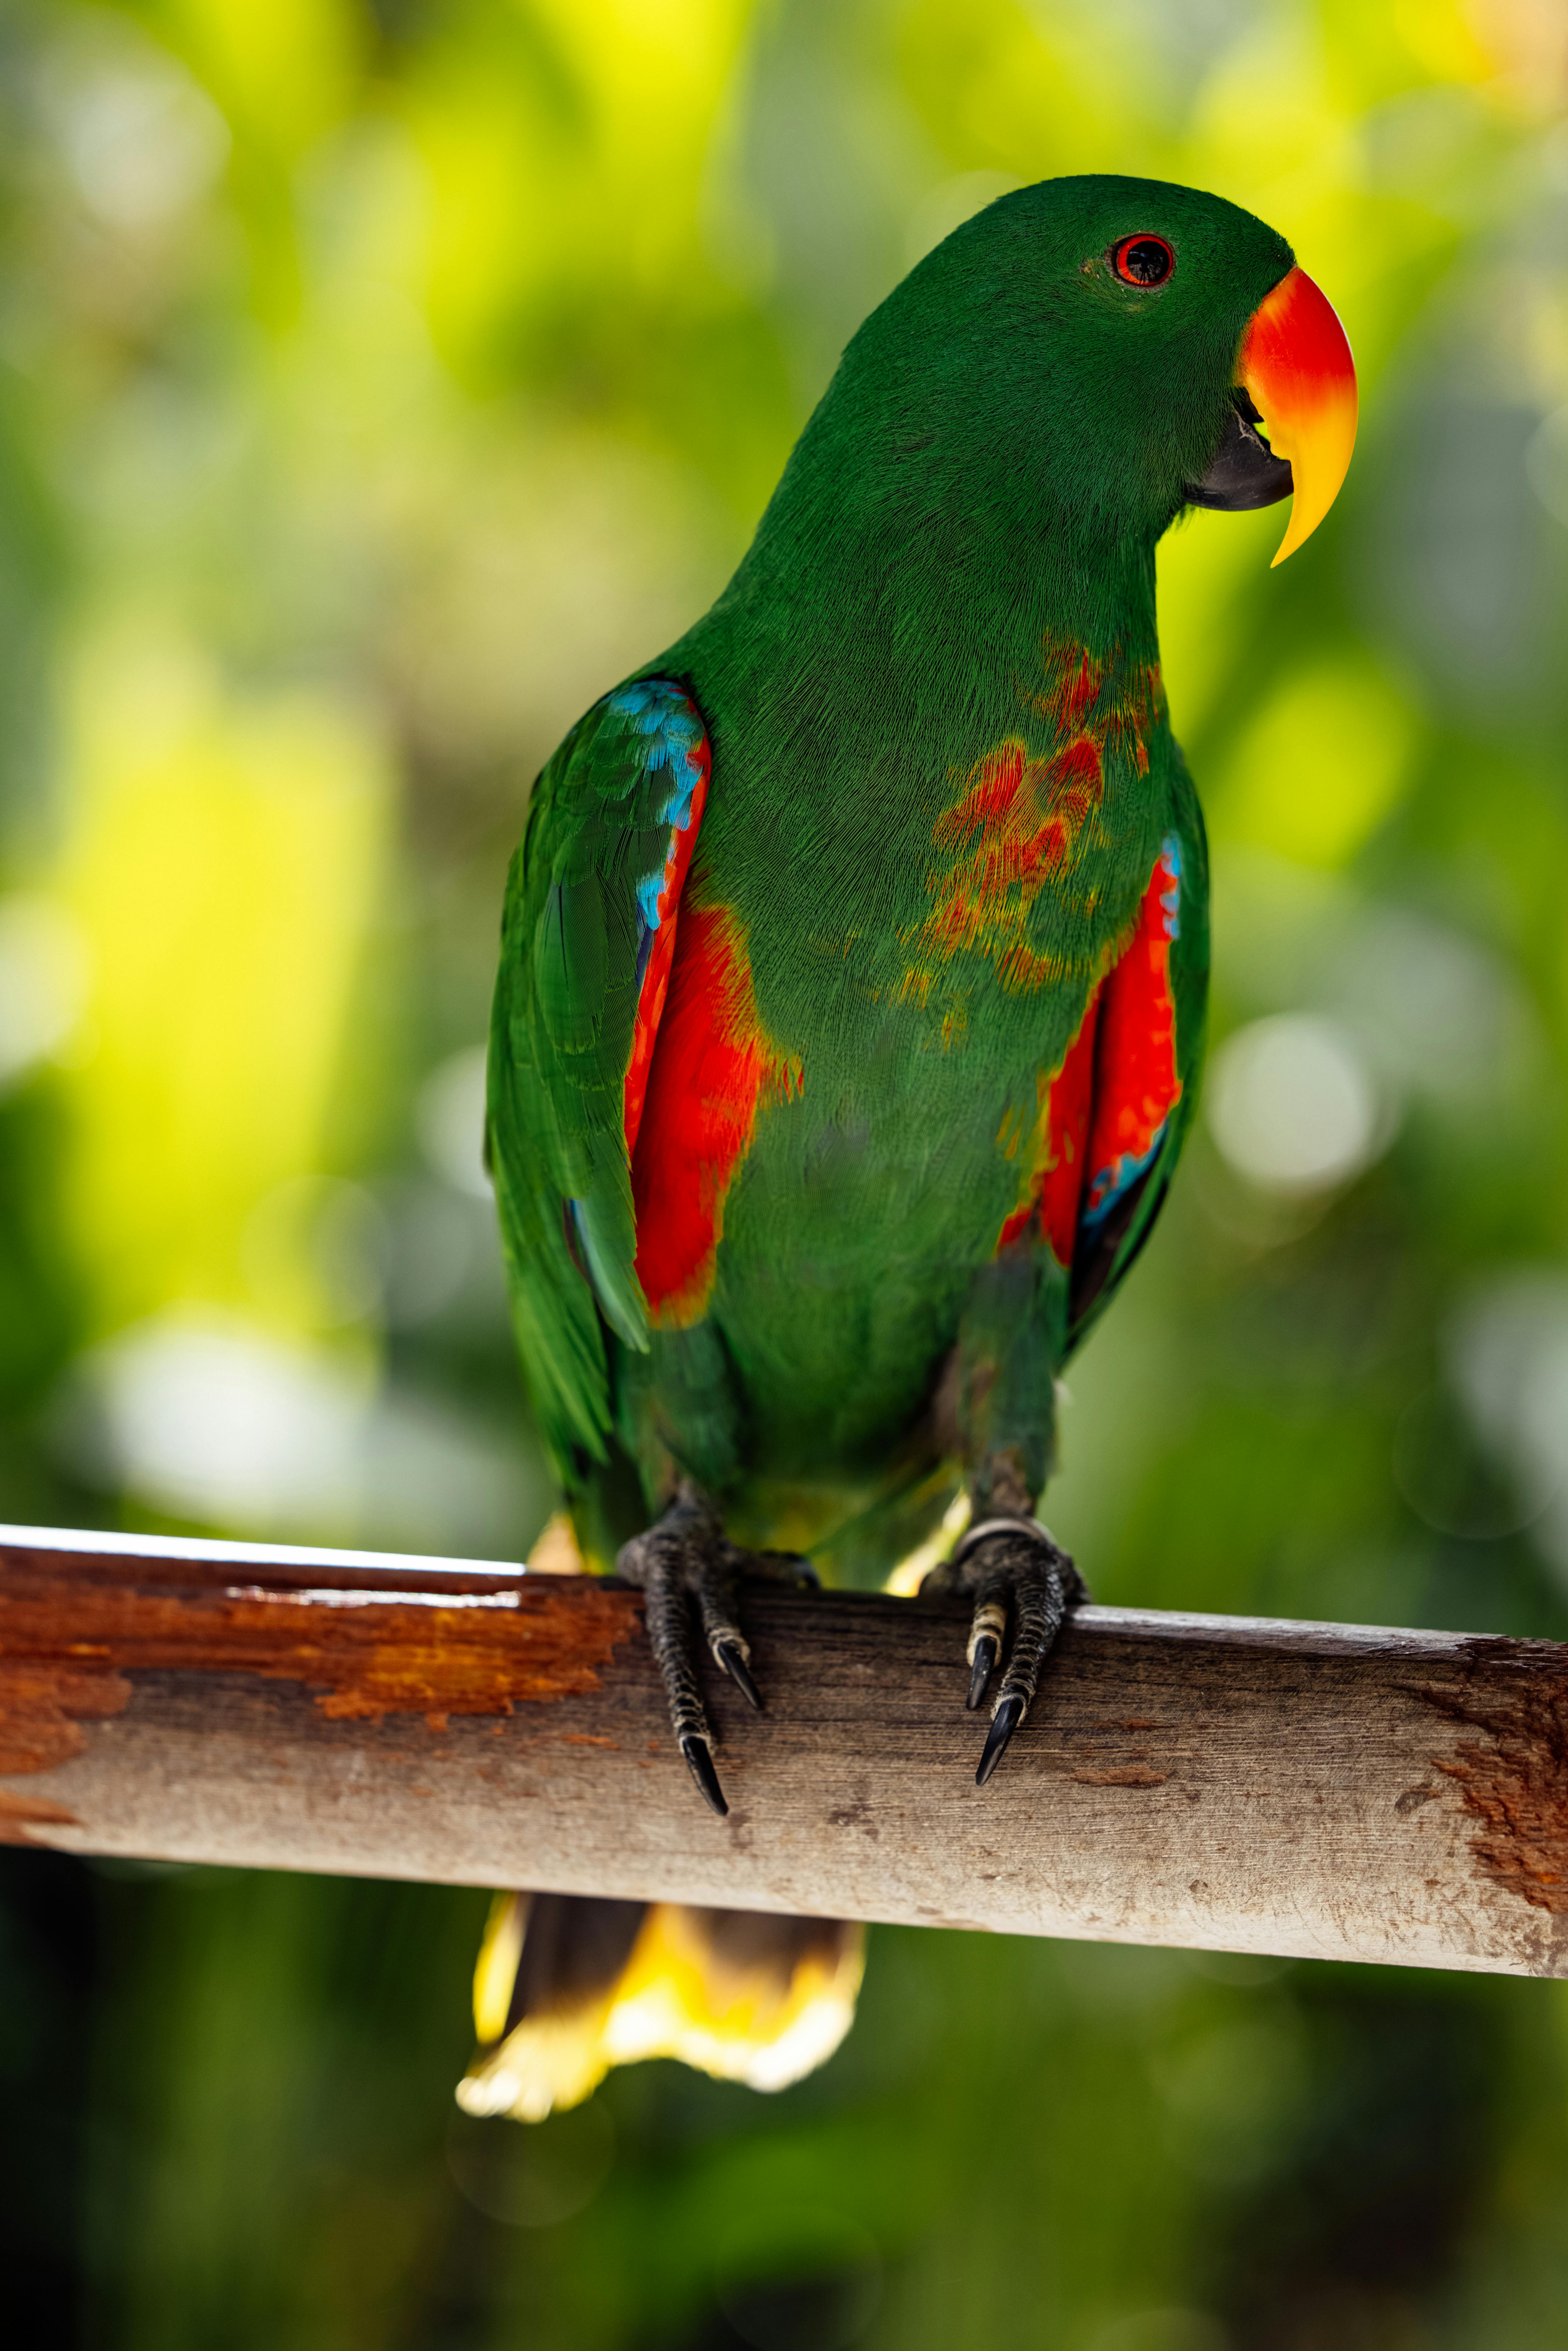
[[748,1587],[696,1799],[642,1599],[0,1528],[0,1836],[1568,1972],[1568,1648],[1084,1608],[987,1789],[952,1603]]

